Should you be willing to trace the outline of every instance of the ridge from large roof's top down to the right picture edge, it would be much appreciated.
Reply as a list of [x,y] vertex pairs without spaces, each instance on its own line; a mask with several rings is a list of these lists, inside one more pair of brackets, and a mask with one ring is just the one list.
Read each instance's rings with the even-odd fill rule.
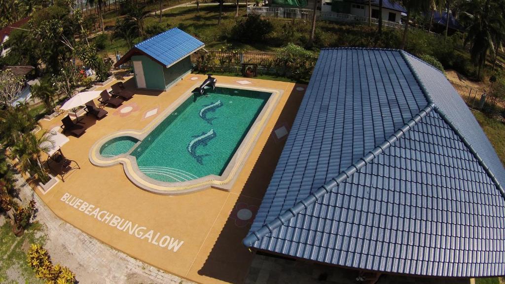
[[426,63],[424,60],[419,59],[419,58],[411,55],[410,53],[407,53],[405,51],[400,51],[400,55],[403,57],[403,60],[405,61],[405,63],[407,63],[407,66],[409,67],[412,74],[414,75],[414,78],[416,79],[419,87],[421,88],[421,91],[424,93],[424,96],[426,97],[428,104],[433,106],[433,109],[435,110],[435,112],[438,113],[440,115],[440,117],[442,117],[442,119],[445,121],[445,123],[447,123],[450,126],[450,128],[456,133],[456,135],[458,135],[458,137],[460,137],[460,139],[463,141],[463,144],[468,148],[468,150],[470,151],[470,153],[472,153],[472,155],[475,157],[475,159],[477,159],[477,162],[479,162],[479,164],[484,169],[484,171],[487,173],[489,178],[491,178],[491,180],[494,182],[496,188],[498,189],[498,191],[501,194],[501,196],[503,197],[503,199],[505,199],[505,188],[503,188],[503,186],[500,184],[500,182],[498,181],[498,179],[496,178],[494,173],[487,166],[486,162],[484,162],[484,160],[482,160],[479,153],[477,153],[477,150],[472,146],[472,144],[470,144],[470,141],[468,141],[468,139],[463,135],[463,133],[460,131],[460,129],[454,123],[452,123],[451,120],[449,120],[448,116],[445,114],[445,112],[443,110],[441,110],[438,106],[435,105],[435,103],[431,99],[431,96],[430,96],[428,90],[426,90],[426,87],[424,86],[423,81],[419,78],[418,74],[416,73],[415,69],[412,67],[412,64],[409,62],[409,60],[407,60],[406,56],[410,55],[413,58],[430,66],[431,68],[437,70],[438,72],[440,72],[440,73],[442,73],[442,72],[440,70],[438,70],[437,68],[435,68],[433,65]]

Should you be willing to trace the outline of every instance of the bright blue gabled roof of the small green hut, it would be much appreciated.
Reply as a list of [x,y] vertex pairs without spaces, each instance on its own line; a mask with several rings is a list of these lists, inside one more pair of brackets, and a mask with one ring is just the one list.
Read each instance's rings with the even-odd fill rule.
[[204,46],[193,36],[173,28],[135,44],[115,66],[125,63],[133,55],[143,54],[168,68]]

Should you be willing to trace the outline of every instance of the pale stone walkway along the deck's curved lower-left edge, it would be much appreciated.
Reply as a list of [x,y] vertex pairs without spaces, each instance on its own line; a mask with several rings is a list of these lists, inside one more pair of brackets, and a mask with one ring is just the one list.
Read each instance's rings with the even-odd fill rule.
[[68,266],[76,273],[80,284],[192,283],[133,259],[91,238],[58,218],[19,174],[16,178],[17,186],[21,189],[21,199],[27,202],[31,197],[35,198],[38,209],[36,220],[46,227],[45,248],[53,262]]

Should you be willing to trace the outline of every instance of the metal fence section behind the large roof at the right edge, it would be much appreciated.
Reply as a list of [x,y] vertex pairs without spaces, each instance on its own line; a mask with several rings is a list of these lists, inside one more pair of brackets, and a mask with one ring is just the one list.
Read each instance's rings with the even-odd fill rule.
[[455,81],[450,83],[470,108],[491,113],[505,111],[505,100],[488,96],[485,91],[468,85]]

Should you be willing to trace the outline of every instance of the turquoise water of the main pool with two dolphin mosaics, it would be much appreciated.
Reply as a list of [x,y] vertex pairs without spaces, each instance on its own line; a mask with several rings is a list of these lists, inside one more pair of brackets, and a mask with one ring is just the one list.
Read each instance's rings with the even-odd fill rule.
[[139,169],[160,181],[221,175],[270,92],[216,87],[179,106],[133,150]]

